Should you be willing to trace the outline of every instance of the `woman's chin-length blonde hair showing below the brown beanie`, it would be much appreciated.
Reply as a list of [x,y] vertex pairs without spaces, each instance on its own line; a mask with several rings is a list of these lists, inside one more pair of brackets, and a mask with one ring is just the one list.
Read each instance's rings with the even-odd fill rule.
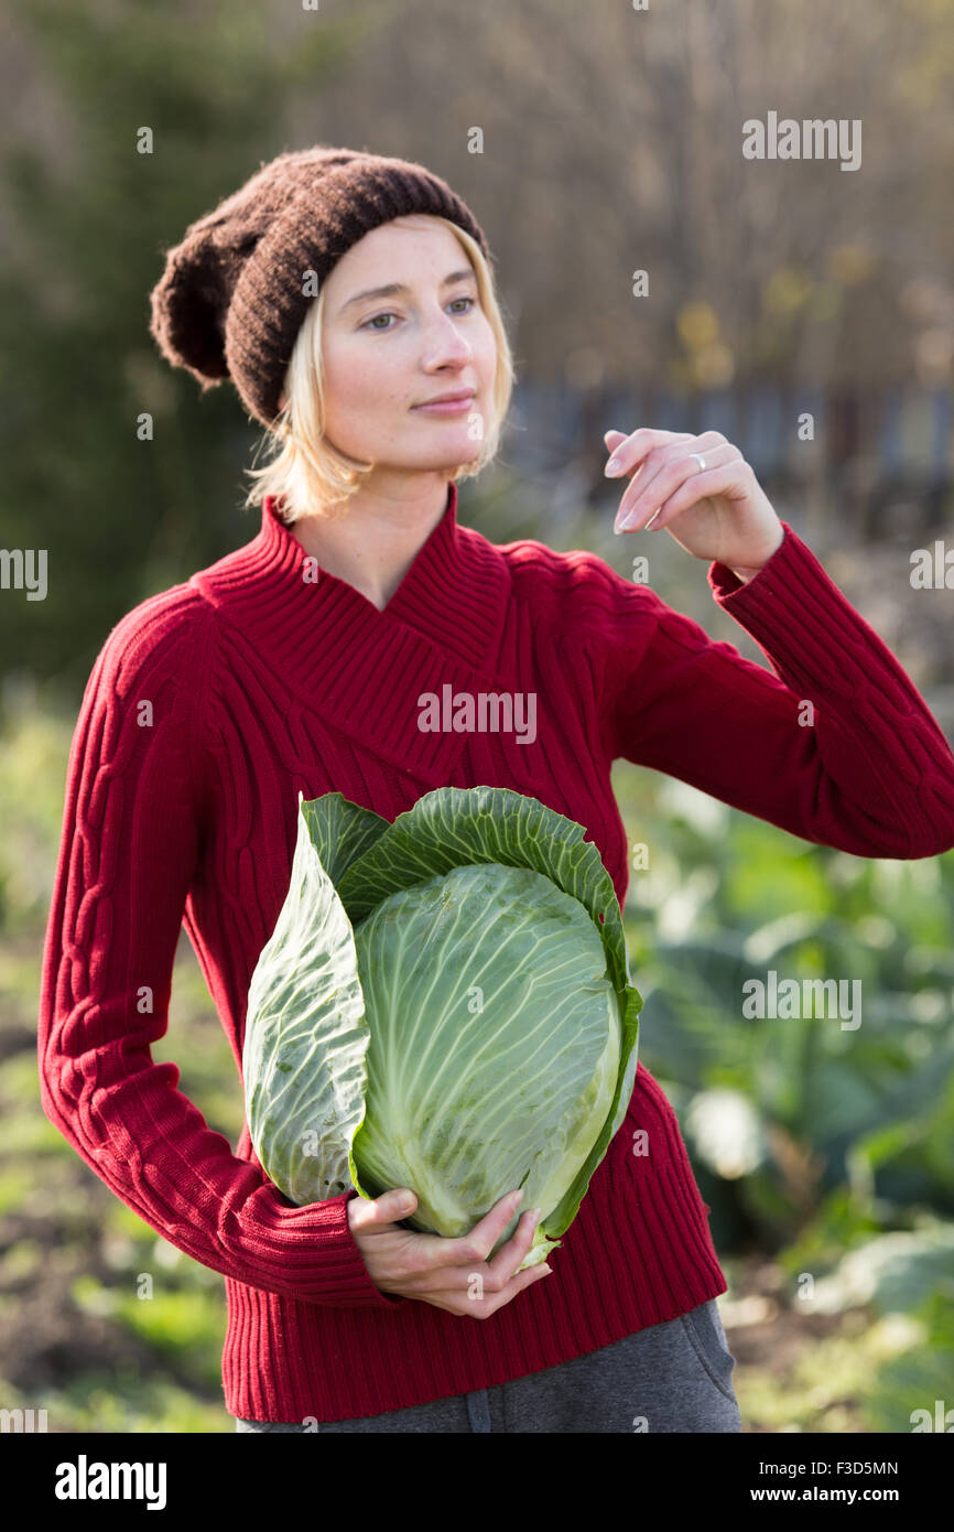
[[[450,472],[452,480],[476,476],[498,453],[501,430],[513,392],[513,354],[501,316],[495,280],[484,253],[472,236],[438,218],[464,247],[478,283],[481,306],[496,340],[496,374],[493,380],[493,420],[481,443],[479,453]],[[245,506],[260,504],[266,495],[282,504],[282,521],[292,522],[305,515],[335,516],[346,513],[346,502],[372,472],[374,463],[351,458],[325,438],[325,389],[322,358],[322,322],[325,316],[325,285],[305,316],[285,375],[286,401],[268,427],[259,446],[270,444],[274,457],[262,469],[245,469],[256,480]],[[343,506],[334,513],[329,507]]]

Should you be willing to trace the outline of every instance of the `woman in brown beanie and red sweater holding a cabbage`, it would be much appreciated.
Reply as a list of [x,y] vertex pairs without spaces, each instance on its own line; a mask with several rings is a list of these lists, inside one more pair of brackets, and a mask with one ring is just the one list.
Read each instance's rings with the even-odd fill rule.
[[[403,1227],[406,1187],[296,1207],[248,1128],[233,1154],[150,1056],[184,918],[240,1065],[299,791],[394,820],[436,786],[511,787],[586,826],[620,904],[619,757],[856,855],[954,843],[954,760],[925,703],[715,432],[608,432],[622,510],[715,561],[714,597],[778,674],[596,555],[458,522],[456,481],[493,458],[511,388],[487,256],[423,165],[326,149],[263,165],[168,253],[158,343],[204,388],[231,378],[277,457],[250,496],[257,536],[129,613],[90,676],[44,951],[44,1108],[224,1273],[236,1429],[733,1432],[709,1209],[642,1065],[560,1249],[516,1275],[534,1209],[487,1259],[510,1198],[461,1239]],[[423,732],[420,694],[446,685],[531,692],[534,738]]]

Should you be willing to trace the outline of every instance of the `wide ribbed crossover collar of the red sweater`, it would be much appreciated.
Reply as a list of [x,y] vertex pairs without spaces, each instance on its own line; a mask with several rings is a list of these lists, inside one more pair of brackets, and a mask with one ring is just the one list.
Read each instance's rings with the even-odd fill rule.
[[[510,599],[502,553],[456,519],[458,490],[383,611],[329,570],[305,579],[308,555],[262,506],[251,542],[199,570],[210,601],[262,665],[375,755],[435,786],[447,781],[466,734],[418,729],[421,692],[499,689],[498,647]],[[308,568],[314,568],[309,564]]]

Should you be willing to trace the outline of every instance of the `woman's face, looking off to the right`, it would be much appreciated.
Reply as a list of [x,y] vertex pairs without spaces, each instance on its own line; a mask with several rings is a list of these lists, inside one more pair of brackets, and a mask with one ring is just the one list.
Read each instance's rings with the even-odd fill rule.
[[[363,297],[368,290],[401,291]],[[325,430],[381,470],[453,469],[493,420],[496,340],[476,274],[449,228],[426,214],[381,224],[325,282]],[[449,412],[420,406],[472,394]]]

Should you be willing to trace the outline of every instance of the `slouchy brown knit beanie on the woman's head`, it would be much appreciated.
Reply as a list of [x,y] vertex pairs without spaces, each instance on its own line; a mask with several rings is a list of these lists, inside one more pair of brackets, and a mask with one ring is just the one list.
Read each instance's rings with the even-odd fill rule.
[[470,208],[424,165],[322,146],[279,155],[167,251],[152,293],[159,349],[202,392],[231,378],[250,415],[271,424],[312,302],[306,273],[322,282],[369,230],[406,213],[459,224],[490,259]]

